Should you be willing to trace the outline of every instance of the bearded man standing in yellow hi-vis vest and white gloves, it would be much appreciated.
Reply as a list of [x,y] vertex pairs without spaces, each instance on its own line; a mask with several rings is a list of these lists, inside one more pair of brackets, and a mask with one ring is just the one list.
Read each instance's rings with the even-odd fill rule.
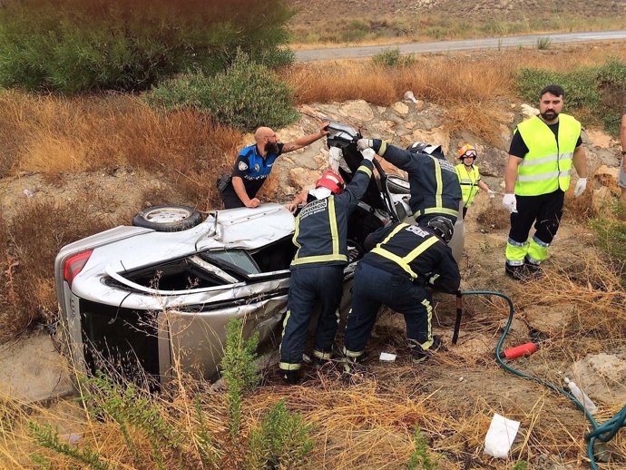
[[[562,216],[572,163],[579,179],[574,197],[587,187],[581,123],[562,114],[564,91],[548,85],[540,93],[539,115],[517,126],[504,171],[503,204],[511,212],[505,272],[514,279],[540,274]],[[533,238],[528,233],[534,222]]]

